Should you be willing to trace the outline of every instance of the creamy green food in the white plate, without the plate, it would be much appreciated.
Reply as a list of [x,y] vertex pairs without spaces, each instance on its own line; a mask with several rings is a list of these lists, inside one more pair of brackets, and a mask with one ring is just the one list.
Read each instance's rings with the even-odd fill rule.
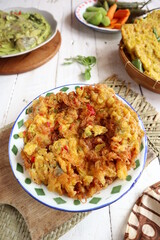
[[50,34],[49,23],[39,13],[0,11],[0,56],[32,49]]

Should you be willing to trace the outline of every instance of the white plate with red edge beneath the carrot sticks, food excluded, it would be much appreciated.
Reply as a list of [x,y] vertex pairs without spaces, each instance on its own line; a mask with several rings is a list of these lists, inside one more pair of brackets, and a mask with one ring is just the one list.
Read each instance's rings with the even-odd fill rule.
[[76,18],[85,26],[92,28],[96,31],[99,32],[103,32],[103,33],[118,33],[121,32],[119,29],[109,29],[109,28],[105,28],[105,27],[98,27],[98,26],[94,26],[90,23],[88,23],[84,18],[83,18],[83,13],[86,11],[86,9],[88,7],[94,6],[97,3],[97,0],[87,0],[83,3],[81,3],[80,5],[78,5],[78,7],[76,7],[75,10],[75,16]]

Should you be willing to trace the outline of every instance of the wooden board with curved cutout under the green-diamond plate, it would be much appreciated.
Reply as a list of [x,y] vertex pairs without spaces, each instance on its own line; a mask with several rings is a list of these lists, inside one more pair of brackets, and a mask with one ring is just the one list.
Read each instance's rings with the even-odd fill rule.
[[[33,199],[18,184],[12,173],[8,157],[8,140],[11,128],[12,125],[8,125],[0,130],[0,203],[15,207],[24,217],[31,238],[39,240],[73,218],[77,213],[46,207]],[[155,157],[154,152],[150,150],[146,165]]]

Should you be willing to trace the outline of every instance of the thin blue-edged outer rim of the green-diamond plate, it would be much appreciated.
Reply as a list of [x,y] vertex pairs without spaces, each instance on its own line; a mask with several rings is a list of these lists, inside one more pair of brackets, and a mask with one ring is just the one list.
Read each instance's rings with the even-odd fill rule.
[[[95,206],[95,207],[91,207],[91,208],[86,208],[86,209],[69,209],[67,210],[66,208],[63,208],[63,207],[57,207],[57,206],[51,206],[47,203],[45,203],[43,200],[37,198],[36,196],[34,196],[32,193],[30,193],[28,191],[28,189],[26,187],[24,187],[22,185],[22,183],[19,181],[19,179],[16,177],[16,174],[14,172],[14,169],[13,169],[13,165],[12,165],[12,161],[11,161],[11,156],[10,156],[10,153],[11,153],[11,138],[13,137],[13,131],[14,131],[14,127],[16,125],[16,123],[18,122],[19,120],[19,117],[22,115],[22,113],[27,109],[27,107],[29,105],[32,104],[32,102],[35,100],[35,99],[38,99],[40,96],[44,95],[44,94],[47,94],[48,92],[51,92],[51,91],[54,91],[54,90],[57,90],[57,89],[60,89],[60,88],[63,88],[63,87],[67,87],[67,86],[94,86],[95,84],[85,84],[85,83],[71,83],[71,84],[65,84],[65,85],[61,85],[61,86],[58,86],[58,87],[55,87],[55,88],[52,88],[52,89],[49,89],[47,91],[44,91],[43,93],[39,94],[37,97],[35,97],[32,101],[30,101],[23,109],[22,111],[19,113],[18,117],[16,118],[14,124],[13,124],[13,127],[11,129],[11,132],[10,132],[10,137],[9,137],[9,143],[8,143],[8,156],[9,156],[9,163],[10,163],[10,166],[11,166],[11,169],[12,169],[12,173],[14,175],[14,177],[16,178],[16,180],[18,181],[18,183],[20,184],[20,186],[22,187],[22,189],[27,192],[33,199],[35,199],[36,201],[40,202],[41,204],[47,206],[47,207],[50,207],[51,209],[55,209],[55,210],[60,210],[60,211],[64,211],[64,212],[89,212],[89,211],[93,211],[93,210],[98,210],[98,209],[101,209],[103,207],[106,207],[106,206],[109,206],[111,205],[112,203],[116,202],[117,200],[119,200],[120,198],[122,198],[124,195],[127,194],[127,192],[129,192],[133,186],[136,184],[136,182],[138,181],[139,177],[141,176],[143,170],[144,170],[144,167],[145,167],[145,163],[146,163],[146,159],[147,159],[147,151],[148,151],[148,144],[147,144],[147,136],[146,136],[146,131],[145,131],[145,128],[144,128],[144,125],[143,125],[143,122],[140,118],[140,116],[138,115],[138,113],[135,111],[135,109],[131,106],[130,103],[127,102],[127,100],[125,100],[123,97],[119,96],[118,94],[116,94],[116,96],[118,96],[118,98],[122,99],[138,116],[138,120],[139,120],[139,124],[141,126],[141,128],[144,130],[144,157],[143,157],[143,166],[142,166],[142,169],[141,171],[138,173],[138,176],[135,178],[135,180],[133,181],[133,183],[131,184],[131,186],[129,188],[127,188],[127,190],[125,190],[118,198],[116,198],[115,200],[112,200],[108,203],[105,203],[105,204],[102,204],[102,205],[99,205],[99,206]],[[123,102],[122,101],[122,102]],[[40,186],[37,184],[37,186]],[[102,189],[103,190],[103,189]],[[59,195],[59,194],[58,194]],[[61,197],[59,195],[59,197]],[[94,195],[92,196],[92,198],[94,197]],[[74,200],[74,199],[72,199]]]

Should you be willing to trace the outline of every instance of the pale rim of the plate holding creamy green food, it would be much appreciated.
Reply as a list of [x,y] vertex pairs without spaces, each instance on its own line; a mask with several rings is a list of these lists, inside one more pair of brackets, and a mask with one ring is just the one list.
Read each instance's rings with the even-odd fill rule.
[[35,7],[9,7],[9,8],[3,9],[3,11],[6,11],[6,12],[10,12],[12,10],[19,10],[19,11],[22,11],[22,12],[23,11],[25,11],[25,12],[34,11],[34,12],[40,13],[43,17],[45,15],[47,15],[49,18],[52,18],[54,27],[49,23],[48,18],[45,17],[45,19],[47,20],[47,22],[49,23],[49,25],[51,27],[51,34],[48,36],[48,38],[44,42],[40,43],[39,45],[37,45],[34,48],[31,48],[29,50],[25,50],[23,52],[18,52],[18,53],[14,53],[14,54],[3,55],[3,56],[0,56],[0,58],[18,57],[18,56],[21,56],[23,54],[30,53],[30,52],[42,47],[43,45],[47,44],[49,41],[51,41],[55,37],[55,35],[57,33],[58,22],[54,18],[53,14],[51,12],[48,12],[48,11],[43,10],[43,9],[38,9],[38,8],[35,8]]

